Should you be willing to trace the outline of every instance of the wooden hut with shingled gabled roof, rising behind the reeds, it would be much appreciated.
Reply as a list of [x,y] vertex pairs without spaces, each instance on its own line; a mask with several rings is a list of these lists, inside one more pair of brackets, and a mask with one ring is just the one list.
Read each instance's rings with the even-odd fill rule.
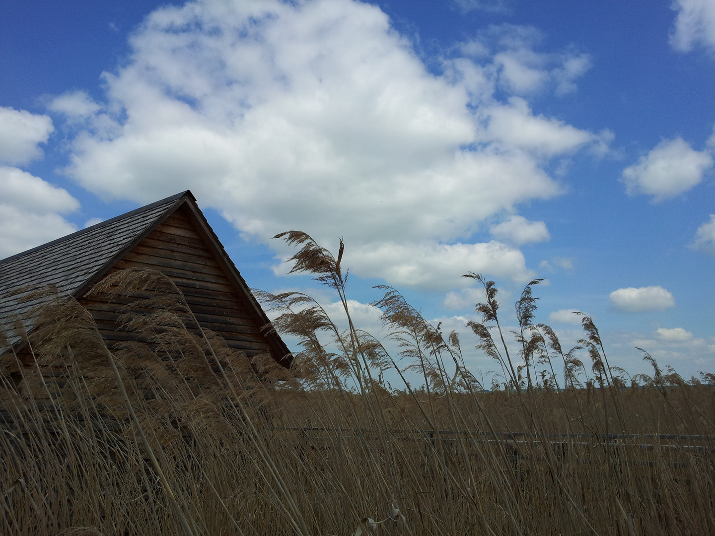
[[[290,365],[289,349],[277,334],[262,331],[269,322],[265,312],[188,190],[1,260],[0,329],[11,332],[10,324],[22,319],[31,330],[37,302],[15,291],[54,284],[91,312],[110,346],[132,339],[135,334],[119,327],[122,303],[87,292],[108,274],[133,267],[172,279],[199,324],[229,347],[248,357],[270,353]],[[10,343],[18,352],[23,346],[18,336]]]

